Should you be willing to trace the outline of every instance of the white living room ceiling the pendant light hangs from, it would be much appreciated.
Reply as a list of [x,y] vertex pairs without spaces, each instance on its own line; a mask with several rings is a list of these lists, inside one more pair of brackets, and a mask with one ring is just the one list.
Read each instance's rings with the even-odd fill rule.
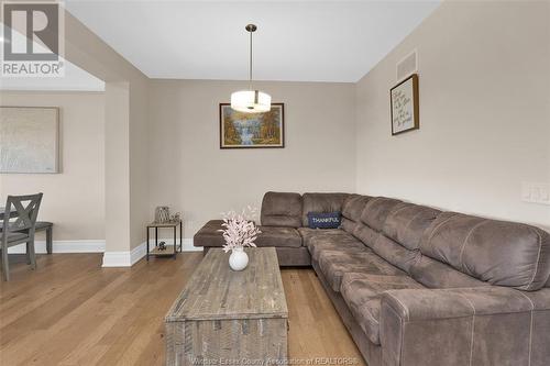
[[90,1],[67,10],[151,78],[358,81],[439,1]]

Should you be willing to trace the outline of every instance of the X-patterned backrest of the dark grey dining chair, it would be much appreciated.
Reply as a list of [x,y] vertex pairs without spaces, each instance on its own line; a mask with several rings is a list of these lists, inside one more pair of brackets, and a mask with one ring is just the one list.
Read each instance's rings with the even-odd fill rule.
[[[41,201],[42,193],[28,196],[8,196],[8,200],[6,202],[6,212],[3,217],[4,232],[24,230],[34,231]],[[13,209],[15,209],[16,215],[13,221],[10,221],[12,207]]]

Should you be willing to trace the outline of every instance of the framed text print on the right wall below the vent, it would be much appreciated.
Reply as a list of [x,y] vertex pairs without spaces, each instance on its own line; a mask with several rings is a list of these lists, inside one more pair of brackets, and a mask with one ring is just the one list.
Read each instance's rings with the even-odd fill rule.
[[413,74],[389,90],[392,135],[420,127],[418,75]]

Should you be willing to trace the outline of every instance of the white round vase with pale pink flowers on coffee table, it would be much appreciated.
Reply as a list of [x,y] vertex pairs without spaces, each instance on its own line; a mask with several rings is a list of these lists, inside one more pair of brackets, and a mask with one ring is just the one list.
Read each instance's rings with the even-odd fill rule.
[[244,252],[244,247],[256,246],[254,241],[262,233],[252,220],[255,212],[256,210],[249,206],[248,210],[243,210],[241,213],[230,211],[224,214],[223,223],[221,224],[224,229],[219,231],[223,233],[223,239],[226,240],[223,251],[226,253],[231,251],[229,266],[233,270],[243,270],[246,268],[249,265],[249,255]]

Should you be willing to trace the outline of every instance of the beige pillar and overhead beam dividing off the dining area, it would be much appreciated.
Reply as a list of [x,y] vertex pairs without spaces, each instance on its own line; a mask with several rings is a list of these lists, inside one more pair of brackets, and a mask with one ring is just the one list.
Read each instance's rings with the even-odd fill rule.
[[[116,207],[112,200],[107,201],[106,252],[129,252],[145,241],[144,228],[148,219],[148,167],[144,163],[148,155],[148,78],[68,12],[65,13],[65,56],[105,80],[107,90],[109,84],[113,84],[112,90],[119,88],[121,82],[128,88],[128,102],[117,103],[120,93],[114,92],[113,96],[118,97],[109,104],[111,108],[106,115],[106,121],[121,118],[117,123],[125,124],[116,127],[113,132],[117,134],[107,141],[106,159],[112,162],[106,190],[129,198],[125,201],[128,208]],[[120,153],[119,141],[125,144],[127,152],[122,154],[128,156],[127,159],[110,155]],[[111,143],[113,146],[110,146]],[[118,213],[121,210],[129,218],[121,218]]]

